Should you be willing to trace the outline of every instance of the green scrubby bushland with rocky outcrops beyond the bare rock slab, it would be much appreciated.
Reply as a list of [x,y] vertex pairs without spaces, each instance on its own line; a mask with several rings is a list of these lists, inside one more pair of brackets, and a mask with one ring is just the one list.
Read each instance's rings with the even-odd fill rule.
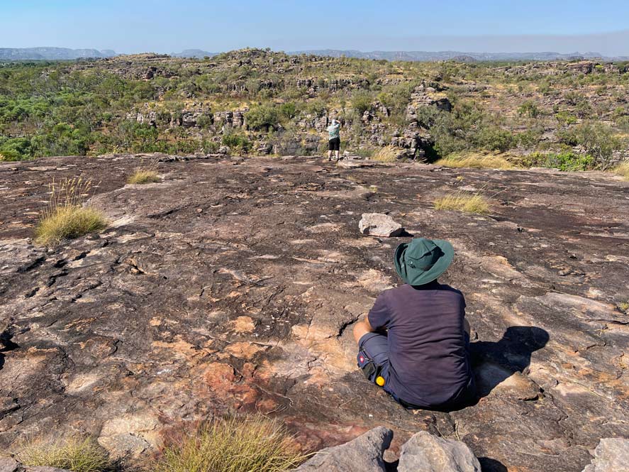
[[[529,66],[268,50],[206,60],[9,63],[0,65],[0,159],[211,153],[221,146],[283,153],[291,142],[293,150],[318,153],[331,116],[343,122],[345,148],[362,155],[398,137],[396,146],[420,147],[429,160],[495,151],[522,156],[523,165],[576,169],[605,168],[622,157],[627,65],[588,74],[567,63],[552,65],[552,74],[542,73],[550,65]],[[435,106],[440,99],[451,109]],[[223,117],[236,111],[244,123]]]

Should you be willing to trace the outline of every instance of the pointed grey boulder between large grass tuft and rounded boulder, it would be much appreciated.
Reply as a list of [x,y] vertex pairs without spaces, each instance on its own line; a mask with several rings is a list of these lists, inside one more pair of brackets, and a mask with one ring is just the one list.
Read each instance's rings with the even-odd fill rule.
[[379,426],[340,446],[321,449],[296,472],[385,472],[382,454],[391,439],[391,429]]

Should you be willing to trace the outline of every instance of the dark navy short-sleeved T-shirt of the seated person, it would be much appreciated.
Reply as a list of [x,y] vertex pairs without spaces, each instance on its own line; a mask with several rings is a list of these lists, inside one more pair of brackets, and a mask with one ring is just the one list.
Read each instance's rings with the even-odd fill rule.
[[401,400],[437,407],[473,388],[464,316],[462,293],[436,281],[379,295],[369,324],[388,331],[388,387]]

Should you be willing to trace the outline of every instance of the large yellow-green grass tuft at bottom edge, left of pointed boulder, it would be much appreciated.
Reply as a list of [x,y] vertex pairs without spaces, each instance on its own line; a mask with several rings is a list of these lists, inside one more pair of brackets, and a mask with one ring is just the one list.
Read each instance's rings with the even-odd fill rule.
[[173,439],[154,472],[284,472],[306,456],[278,422],[262,416],[215,419]]

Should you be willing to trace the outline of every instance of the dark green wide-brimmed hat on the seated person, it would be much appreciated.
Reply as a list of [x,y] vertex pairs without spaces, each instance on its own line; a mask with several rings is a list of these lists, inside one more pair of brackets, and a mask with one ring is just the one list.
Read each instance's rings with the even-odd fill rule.
[[414,238],[395,250],[395,270],[408,285],[436,280],[452,263],[455,249],[442,239]]

